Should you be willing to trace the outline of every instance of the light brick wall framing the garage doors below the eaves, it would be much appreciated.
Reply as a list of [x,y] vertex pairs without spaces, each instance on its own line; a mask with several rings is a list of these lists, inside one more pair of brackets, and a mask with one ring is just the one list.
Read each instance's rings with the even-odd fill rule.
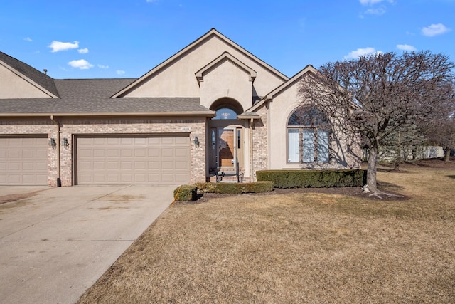
[[[191,145],[190,182],[205,182],[205,117],[186,118],[143,118],[143,117],[100,117],[65,118],[55,117],[60,123],[60,139],[66,137],[70,146],[60,147],[60,179],[62,186],[73,185],[73,140],[74,135],[114,135],[114,134],[188,134]],[[0,135],[48,135],[58,140],[58,125],[49,118],[29,120],[0,120]],[[199,147],[193,145],[197,136]],[[48,184],[55,187],[58,177],[58,147],[48,150]]]

